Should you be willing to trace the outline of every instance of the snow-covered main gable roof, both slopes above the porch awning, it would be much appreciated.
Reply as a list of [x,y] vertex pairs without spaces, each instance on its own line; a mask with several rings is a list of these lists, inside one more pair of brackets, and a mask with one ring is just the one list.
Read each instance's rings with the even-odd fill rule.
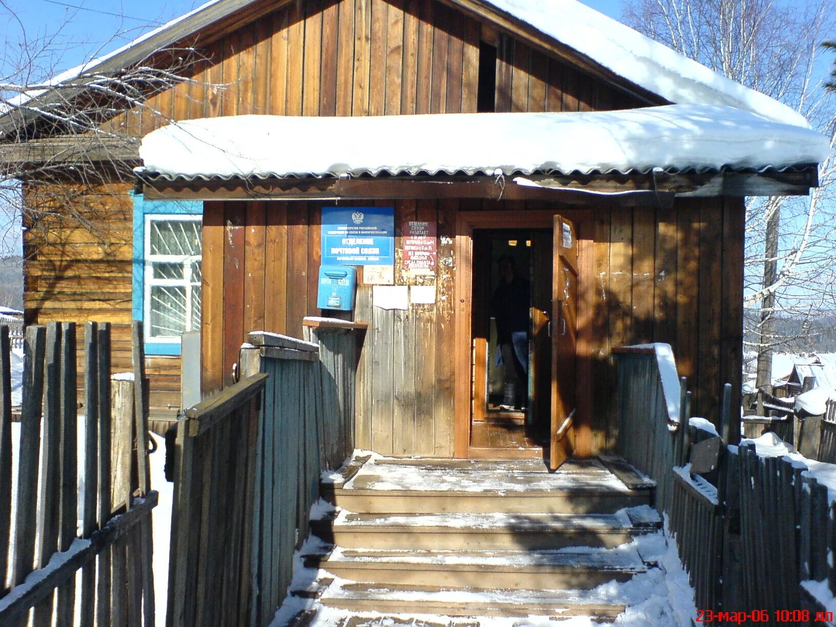
[[[670,103],[731,106],[761,115],[767,120],[809,127],[803,115],[785,104],[687,59],[578,0],[447,1],[463,10],[492,19],[500,26],[511,23],[522,25],[523,30],[528,27],[529,32],[533,30],[546,38],[553,47],[570,48],[581,58],[604,69],[606,74],[614,74],[626,83],[635,84]],[[243,9],[249,13],[258,4],[272,10],[283,2],[210,0],[191,13],[146,33],[113,53],[60,74],[50,84],[79,79],[84,83],[87,77],[130,67],[163,48],[200,33],[232,13]],[[59,99],[59,95],[54,92],[57,90],[43,89],[19,98],[18,104],[34,100],[37,105],[31,109],[13,110],[4,114],[0,117],[0,131],[9,130],[3,128],[8,125],[8,121],[3,125],[3,118],[8,120],[13,117],[9,114],[15,111],[24,118],[36,118],[39,115],[38,109],[49,103],[51,94],[52,99]],[[66,99],[67,95],[64,90],[60,99]]]

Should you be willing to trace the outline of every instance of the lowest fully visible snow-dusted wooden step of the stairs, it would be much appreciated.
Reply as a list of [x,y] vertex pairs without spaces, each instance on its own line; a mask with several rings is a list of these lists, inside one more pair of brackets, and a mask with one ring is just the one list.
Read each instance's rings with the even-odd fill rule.
[[614,619],[625,607],[596,594],[579,595],[552,589],[503,593],[440,586],[359,583],[332,584],[320,602],[328,607],[354,612],[502,617],[539,615],[563,619],[573,616]]

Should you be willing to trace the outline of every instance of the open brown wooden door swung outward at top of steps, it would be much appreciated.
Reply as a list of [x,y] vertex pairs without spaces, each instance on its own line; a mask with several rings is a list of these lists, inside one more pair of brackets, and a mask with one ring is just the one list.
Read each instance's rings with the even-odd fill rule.
[[578,237],[572,222],[554,217],[552,274],[552,425],[550,466],[574,451],[578,339]]

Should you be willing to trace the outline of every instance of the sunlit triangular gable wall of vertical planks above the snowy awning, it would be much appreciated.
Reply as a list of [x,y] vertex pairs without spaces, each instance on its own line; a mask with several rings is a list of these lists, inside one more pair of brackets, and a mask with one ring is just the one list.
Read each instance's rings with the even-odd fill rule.
[[[479,42],[497,45],[496,110],[612,110],[642,103],[434,0],[289,3],[214,40],[181,84],[111,120],[145,135],[217,115],[474,113]],[[155,113],[158,112],[158,113]]]

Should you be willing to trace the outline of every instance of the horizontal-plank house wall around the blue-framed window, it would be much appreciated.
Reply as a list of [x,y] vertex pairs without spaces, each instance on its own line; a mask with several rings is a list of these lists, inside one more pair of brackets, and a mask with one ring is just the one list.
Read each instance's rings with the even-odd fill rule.
[[[130,186],[27,186],[23,231],[26,324],[112,324],[112,372],[130,372],[133,201]],[[176,418],[180,358],[146,357],[151,420]],[[79,390],[84,351],[79,348]],[[83,396],[79,396],[83,398]]]

